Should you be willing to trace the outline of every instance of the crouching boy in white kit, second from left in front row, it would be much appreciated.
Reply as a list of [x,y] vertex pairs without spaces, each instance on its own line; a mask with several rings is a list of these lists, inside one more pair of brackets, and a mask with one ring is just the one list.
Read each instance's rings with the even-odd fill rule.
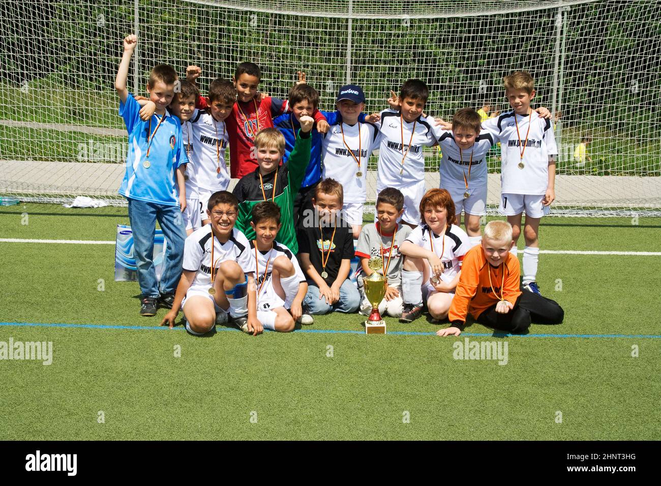
[[[264,329],[288,333],[301,318],[307,282],[295,255],[276,241],[280,207],[271,201],[255,204],[251,226],[251,254],[256,267],[257,320]],[[291,314],[290,314],[291,309]]]

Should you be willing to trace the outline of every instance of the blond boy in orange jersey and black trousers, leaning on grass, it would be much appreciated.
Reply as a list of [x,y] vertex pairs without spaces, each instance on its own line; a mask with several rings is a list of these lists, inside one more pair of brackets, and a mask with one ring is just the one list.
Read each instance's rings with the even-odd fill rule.
[[477,322],[508,333],[525,333],[533,320],[559,324],[564,311],[557,302],[533,292],[521,292],[519,261],[510,253],[512,225],[492,221],[485,227],[481,245],[471,248],[463,259],[461,276],[450,305],[450,327],[439,336],[458,336],[466,315]]

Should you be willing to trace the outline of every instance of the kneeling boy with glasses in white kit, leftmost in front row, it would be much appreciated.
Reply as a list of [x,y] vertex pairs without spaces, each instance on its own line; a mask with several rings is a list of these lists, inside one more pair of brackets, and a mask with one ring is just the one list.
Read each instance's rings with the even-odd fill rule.
[[210,224],[196,229],[184,243],[184,271],[176,288],[175,302],[161,325],[172,328],[184,311],[186,331],[203,335],[227,316],[241,331],[256,336],[263,328],[257,320],[254,286],[255,265],[250,243],[234,227],[237,199],[219,190],[209,198]]

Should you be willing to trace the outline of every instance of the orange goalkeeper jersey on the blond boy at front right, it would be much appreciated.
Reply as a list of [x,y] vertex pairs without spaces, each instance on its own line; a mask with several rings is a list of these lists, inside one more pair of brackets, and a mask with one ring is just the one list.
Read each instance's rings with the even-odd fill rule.
[[483,311],[496,304],[500,300],[503,272],[502,296],[514,305],[521,295],[519,260],[508,252],[503,264],[492,266],[486,261],[482,245],[471,248],[463,259],[459,284],[447,315],[449,321],[465,322],[467,313],[471,313],[473,318],[477,319]]

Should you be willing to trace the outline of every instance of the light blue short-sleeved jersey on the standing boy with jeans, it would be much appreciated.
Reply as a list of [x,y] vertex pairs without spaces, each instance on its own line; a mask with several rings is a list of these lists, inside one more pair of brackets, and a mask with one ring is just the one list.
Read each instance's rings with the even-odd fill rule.
[[[125,103],[120,102],[119,114],[124,118],[128,131],[128,153],[126,173],[119,193],[128,199],[178,206],[175,169],[188,163],[179,119],[166,110],[165,118],[156,130],[161,118],[153,115],[151,123],[149,120],[144,122],[138,114],[139,110],[140,105],[131,94]],[[151,144],[147,159],[148,140]]]

